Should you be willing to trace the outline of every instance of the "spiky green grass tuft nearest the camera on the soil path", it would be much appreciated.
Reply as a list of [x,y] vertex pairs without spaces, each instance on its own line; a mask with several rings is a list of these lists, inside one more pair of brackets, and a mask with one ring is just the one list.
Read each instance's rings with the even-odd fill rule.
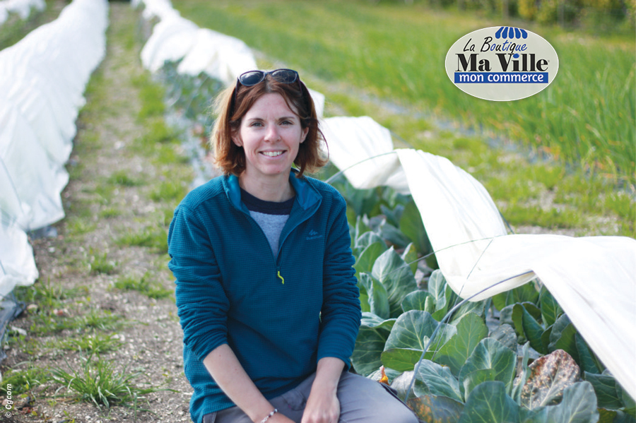
[[67,395],[107,409],[112,405],[136,406],[137,400],[143,399],[142,395],[158,391],[158,388],[136,386],[134,379],[140,373],[129,373],[125,367],[117,372],[114,362],[99,357],[96,362],[91,362],[92,357],[81,357],[79,368],[71,368],[70,372],[60,367],[52,369],[52,379],[64,385]]

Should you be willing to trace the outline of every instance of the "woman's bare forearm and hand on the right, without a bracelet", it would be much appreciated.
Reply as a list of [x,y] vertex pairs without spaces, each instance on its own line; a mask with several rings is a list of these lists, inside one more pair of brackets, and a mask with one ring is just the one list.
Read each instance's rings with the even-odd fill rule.
[[338,423],[340,401],[336,394],[343,368],[341,359],[324,357],[319,360],[312,392],[302,413],[302,423]]

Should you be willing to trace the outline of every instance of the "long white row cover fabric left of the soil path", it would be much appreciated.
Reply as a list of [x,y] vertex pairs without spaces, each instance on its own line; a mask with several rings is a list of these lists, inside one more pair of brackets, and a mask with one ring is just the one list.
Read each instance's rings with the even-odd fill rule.
[[64,218],[64,163],[107,25],[107,0],[74,0],[0,52],[0,294],[37,278],[26,235],[16,231]]

